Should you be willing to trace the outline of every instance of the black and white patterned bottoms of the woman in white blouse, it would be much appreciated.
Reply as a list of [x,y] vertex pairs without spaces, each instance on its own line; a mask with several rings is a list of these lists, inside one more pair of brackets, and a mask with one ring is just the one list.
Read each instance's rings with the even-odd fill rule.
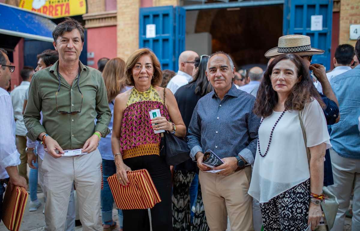
[[260,203],[264,231],[301,231],[307,228],[310,179]]

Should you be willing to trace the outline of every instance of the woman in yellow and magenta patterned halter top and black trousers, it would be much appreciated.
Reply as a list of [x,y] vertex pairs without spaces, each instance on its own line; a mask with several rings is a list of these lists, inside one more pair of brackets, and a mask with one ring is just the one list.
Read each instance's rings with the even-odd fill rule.
[[[160,157],[162,133],[156,134],[154,130],[184,137],[186,128],[174,95],[158,86],[162,72],[152,51],[145,48],[134,51],[126,62],[126,80],[134,88],[116,96],[114,104],[111,144],[116,174],[126,187],[130,183],[126,171],[147,169],[161,198],[150,209],[152,229],[172,230],[171,172]],[[150,119],[149,111],[153,109],[159,109],[161,116]],[[150,230],[148,210],[123,210],[123,230]]]

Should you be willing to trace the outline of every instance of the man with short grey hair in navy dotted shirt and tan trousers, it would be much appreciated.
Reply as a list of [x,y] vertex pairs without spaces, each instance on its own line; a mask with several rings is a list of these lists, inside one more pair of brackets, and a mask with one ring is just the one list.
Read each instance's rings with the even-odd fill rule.
[[[201,170],[199,180],[210,230],[253,230],[252,198],[248,195],[260,118],[253,114],[255,97],[231,83],[234,64],[218,51],[207,63],[206,76],[214,91],[201,98],[189,125],[190,157]],[[224,164],[210,170],[202,164],[204,151],[212,150]]]

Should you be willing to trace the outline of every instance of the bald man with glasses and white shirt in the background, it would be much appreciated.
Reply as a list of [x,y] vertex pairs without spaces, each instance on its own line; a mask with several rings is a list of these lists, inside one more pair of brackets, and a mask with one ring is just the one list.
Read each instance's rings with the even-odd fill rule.
[[192,73],[194,69],[195,58],[199,55],[192,50],[185,50],[179,55],[179,71],[176,76],[172,77],[167,84],[167,88],[175,94],[179,87],[188,84],[193,78]]

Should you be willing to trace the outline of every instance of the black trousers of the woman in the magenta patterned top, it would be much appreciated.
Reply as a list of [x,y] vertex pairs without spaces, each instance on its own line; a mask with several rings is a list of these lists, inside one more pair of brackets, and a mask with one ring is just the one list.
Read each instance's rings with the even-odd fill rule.
[[[132,171],[144,168],[148,170],[161,198],[161,202],[150,209],[152,230],[172,231],[170,166],[158,155],[127,158],[123,162]],[[123,231],[150,230],[147,209],[123,209],[122,213]]]

